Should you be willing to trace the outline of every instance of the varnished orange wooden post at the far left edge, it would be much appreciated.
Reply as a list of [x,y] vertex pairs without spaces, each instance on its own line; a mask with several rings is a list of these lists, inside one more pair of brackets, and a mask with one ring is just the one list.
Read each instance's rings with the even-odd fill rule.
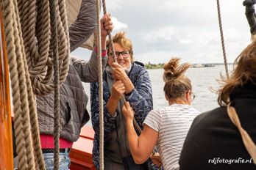
[[3,24],[0,7],[0,169],[13,169],[10,84]]

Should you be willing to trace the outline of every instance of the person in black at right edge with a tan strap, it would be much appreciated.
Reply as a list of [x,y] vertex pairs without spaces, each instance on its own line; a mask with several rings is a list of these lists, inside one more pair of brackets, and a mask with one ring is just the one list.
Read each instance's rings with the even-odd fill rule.
[[256,169],[256,42],[222,77],[220,107],[193,120],[179,159],[181,170]]

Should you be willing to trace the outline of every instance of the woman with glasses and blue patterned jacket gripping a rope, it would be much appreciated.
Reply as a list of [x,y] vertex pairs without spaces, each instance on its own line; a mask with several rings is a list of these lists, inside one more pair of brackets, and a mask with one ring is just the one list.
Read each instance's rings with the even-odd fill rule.
[[[152,85],[149,73],[143,64],[134,62],[132,42],[124,32],[113,37],[115,51],[108,48],[108,62],[103,73],[104,92],[104,169],[147,169],[150,165],[137,165],[132,159],[127,143],[124,116],[121,108],[124,95],[135,111],[135,120],[141,128],[149,111],[153,108]],[[110,46],[110,42],[107,42]],[[113,53],[117,63],[113,60]],[[93,163],[99,169],[99,84],[90,86],[91,116],[95,131],[93,141]]]

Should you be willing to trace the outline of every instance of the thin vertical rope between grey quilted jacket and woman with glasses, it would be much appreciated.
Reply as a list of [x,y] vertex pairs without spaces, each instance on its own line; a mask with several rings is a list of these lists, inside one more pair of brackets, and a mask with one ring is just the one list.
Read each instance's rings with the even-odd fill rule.
[[100,23],[100,0],[96,0],[97,16],[97,57],[98,57],[98,76],[99,76],[99,167],[104,169],[104,121],[103,121],[103,80],[102,80],[102,40]]

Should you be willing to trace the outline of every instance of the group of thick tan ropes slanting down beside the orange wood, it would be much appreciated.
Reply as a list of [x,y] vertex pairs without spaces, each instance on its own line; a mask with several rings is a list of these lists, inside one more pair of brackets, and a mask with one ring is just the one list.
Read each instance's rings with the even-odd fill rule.
[[4,35],[7,42],[13,108],[15,110],[14,127],[18,169],[44,169],[35,99],[21,37],[17,1],[1,0],[1,7],[4,17]]

